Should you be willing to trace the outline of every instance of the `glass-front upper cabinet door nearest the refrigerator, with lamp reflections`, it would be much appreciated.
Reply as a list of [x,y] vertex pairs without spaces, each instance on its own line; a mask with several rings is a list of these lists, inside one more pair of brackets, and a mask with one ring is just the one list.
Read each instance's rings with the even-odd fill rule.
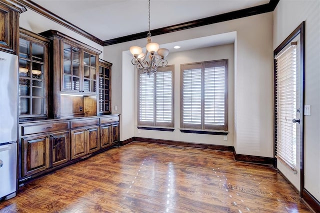
[[20,118],[46,117],[47,115],[46,54],[47,43],[37,41],[20,32],[18,88]]

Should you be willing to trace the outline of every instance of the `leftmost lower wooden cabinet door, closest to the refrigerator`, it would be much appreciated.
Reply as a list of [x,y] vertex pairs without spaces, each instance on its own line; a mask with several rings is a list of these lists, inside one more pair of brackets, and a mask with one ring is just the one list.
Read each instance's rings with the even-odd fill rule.
[[22,139],[23,176],[28,176],[49,167],[48,136],[37,136]]

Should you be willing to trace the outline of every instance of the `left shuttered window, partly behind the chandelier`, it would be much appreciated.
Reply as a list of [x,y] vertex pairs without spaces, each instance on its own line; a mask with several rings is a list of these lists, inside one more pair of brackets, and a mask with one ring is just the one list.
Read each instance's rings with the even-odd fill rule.
[[138,125],[173,127],[174,66],[138,74]]

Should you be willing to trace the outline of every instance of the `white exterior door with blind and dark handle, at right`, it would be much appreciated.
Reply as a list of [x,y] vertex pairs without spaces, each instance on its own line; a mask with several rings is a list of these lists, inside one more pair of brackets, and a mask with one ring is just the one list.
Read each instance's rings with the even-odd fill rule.
[[303,159],[303,64],[300,33],[275,50],[274,154],[277,169],[300,191]]

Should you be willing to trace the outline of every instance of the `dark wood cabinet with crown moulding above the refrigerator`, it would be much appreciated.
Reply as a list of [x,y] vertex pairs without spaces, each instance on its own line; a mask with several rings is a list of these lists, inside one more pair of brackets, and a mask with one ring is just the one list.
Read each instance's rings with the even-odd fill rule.
[[16,1],[0,1],[0,51],[17,55],[19,13],[24,11],[25,7]]

